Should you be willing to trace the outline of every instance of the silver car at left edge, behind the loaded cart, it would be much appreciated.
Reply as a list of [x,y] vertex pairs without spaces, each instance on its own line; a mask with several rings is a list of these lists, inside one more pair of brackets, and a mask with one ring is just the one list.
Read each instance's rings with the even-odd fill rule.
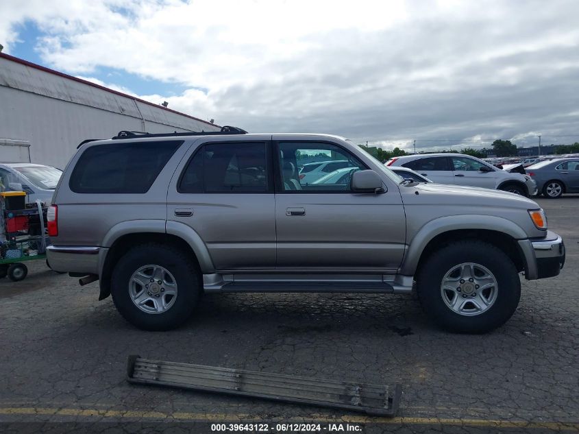
[[32,162],[1,162],[0,182],[6,190],[26,192],[26,202],[34,204],[37,199],[50,204],[62,170]]

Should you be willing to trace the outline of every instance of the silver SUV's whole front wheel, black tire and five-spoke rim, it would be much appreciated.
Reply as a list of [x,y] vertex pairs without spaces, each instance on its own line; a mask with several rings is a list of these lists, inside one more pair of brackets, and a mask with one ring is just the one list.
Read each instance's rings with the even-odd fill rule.
[[424,311],[456,333],[486,333],[517,309],[521,281],[513,261],[482,241],[447,245],[427,259],[417,276]]

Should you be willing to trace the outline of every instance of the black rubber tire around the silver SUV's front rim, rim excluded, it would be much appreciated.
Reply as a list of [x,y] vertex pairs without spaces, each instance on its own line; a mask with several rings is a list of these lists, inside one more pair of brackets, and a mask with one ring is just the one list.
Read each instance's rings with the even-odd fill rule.
[[[441,290],[447,272],[463,263],[486,267],[497,283],[493,304],[473,316],[453,311],[443,300]],[[499,248],[483,241],[457,241],[434,252],[421,265],[417,274],[417,293],[426,314],[445,330],[487,333],[502,326],[515,313],[521,296],[521,281],[515,264]]]

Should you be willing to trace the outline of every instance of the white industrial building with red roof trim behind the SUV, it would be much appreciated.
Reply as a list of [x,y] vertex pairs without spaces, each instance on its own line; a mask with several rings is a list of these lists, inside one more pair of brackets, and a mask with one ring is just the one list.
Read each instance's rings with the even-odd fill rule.
[[64,169],[87,138],[219,125],[0,53],[0,162]]

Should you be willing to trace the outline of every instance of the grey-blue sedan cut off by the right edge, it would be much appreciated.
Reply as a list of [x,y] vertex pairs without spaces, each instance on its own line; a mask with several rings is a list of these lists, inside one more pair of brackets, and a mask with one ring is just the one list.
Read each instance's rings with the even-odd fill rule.
[[554,199],[563,193],[579,193],[579,157],[541,161],[527,167],[527,173],[545,197]]

